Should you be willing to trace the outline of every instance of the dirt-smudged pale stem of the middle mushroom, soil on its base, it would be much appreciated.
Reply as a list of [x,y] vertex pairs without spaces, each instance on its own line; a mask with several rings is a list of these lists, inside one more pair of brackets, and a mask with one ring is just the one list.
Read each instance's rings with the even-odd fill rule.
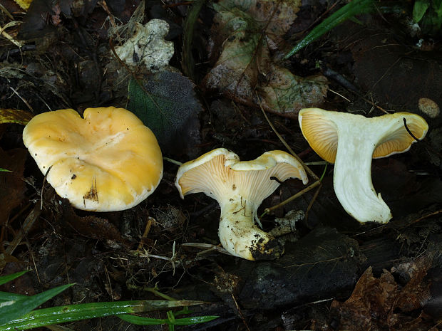
[[220,207],[218,234],[222,246],[229,253],[247,260],[281,256],[284,249],[279,241],[255,225],[257,205],[236,194],[221,203]]

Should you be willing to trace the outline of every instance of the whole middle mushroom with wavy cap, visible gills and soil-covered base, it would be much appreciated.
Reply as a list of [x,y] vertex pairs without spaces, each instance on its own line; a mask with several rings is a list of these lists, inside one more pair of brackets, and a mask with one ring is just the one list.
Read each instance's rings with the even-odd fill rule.
[[286,152],[265,152],[255,160],[240,162],[234,152],[218,148],[182,164],[175,186],[182,198],[203,192],[217,200],[222,246],[234,256],[257,260],[277,258],[283,251],[276,239],[257,228],[254,220],[262,200],[288,178],[308,182],[302,165]]

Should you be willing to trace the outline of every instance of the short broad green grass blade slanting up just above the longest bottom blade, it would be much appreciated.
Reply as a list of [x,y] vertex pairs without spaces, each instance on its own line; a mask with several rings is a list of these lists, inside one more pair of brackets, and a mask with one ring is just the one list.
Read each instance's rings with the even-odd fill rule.
[[11,320],[15,320],[16,318],[25,315],[26,312],[30,312],[72,285],[73,284],[61,285],[57,288],[46,290],[43,293],[32,295],[31,297],[26,296],[19,300],[10,300],[0,303],[0,325],[4,325]]

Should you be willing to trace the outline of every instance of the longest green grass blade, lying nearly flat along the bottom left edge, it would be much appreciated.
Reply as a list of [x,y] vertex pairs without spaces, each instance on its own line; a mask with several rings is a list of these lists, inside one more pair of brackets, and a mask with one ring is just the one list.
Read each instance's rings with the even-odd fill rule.
[[6,325],[0,325],[0,331],[28,330],[45,325],[86,320],[89,318],[106,317],[110,315],[129,314],[134,312],[149,312],[164,308],[175,308],[187,305],[201,305],[202,301],[190,300],[134,300],[116,301],[113,303],[82,303],[80,305],[65,305],[53,308],[34,310],[26,315],[11,320]]

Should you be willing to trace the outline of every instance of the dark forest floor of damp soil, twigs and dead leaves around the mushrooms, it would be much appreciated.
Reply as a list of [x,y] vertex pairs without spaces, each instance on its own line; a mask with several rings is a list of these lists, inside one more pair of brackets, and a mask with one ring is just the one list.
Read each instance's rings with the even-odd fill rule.
[[[345,21],[283,60],[342,4],[196,1],[202,9],[186,20],[192,1],[34,0],[28,11],[1,2],[0,30],[10,38],[0,38],[0,167],[11,172],[0,172],[0,274],[32,270],[1,290],[31,295],[76,283],[47,306],[155,300],[156,289],[204,300],[192,310],[220,316],[180,330],[442,330],[442,116],[429,112],[442,105],[441,30],[416,30],[411,4]],[[157,50],[153,62],[143,62],[145,50],[123,58],[120,47],[152,19],[169,26],[139,41]],[[148,45],[150,39],[158,43]],[[130,88],[135,79],[141,92]],[[167,108],[168,121],[143,115],[148,101],[140,93]],[[360,224],[346,214],[333,165],[314,164],[321,185],[261,219],[270,231],[275,219],[297,211],[279,236],[282,257],[246,261],[219,246],[217,201],[204,194],[180,199],[178,165],[167,160],[155,192],[125,211],[78,211],[43,181],[22,140],[29,118],[111,105],[137,108],[163,156],[178,162],[217,147],[242,160],[287,150],[276,132],[304,162],[321,161],[299,128],[303,107],[368,117],[414,112],[429,130],[408,152],[373,160],[389,223]],[[14,120],[4,120],[6,110]],[[259,214],[302,189],[287,180]],[[64,327],[147,330],[116,317]]]

